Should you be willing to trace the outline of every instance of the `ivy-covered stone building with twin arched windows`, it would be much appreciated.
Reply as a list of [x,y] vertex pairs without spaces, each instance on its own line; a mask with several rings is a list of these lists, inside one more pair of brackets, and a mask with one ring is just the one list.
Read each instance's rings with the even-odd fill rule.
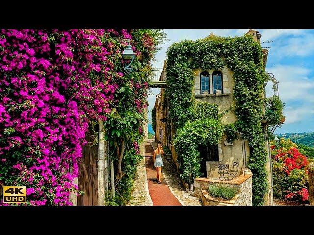
[[154,107],[155,138],[170,148],[183,181],[191,174],[218,179],[217,164],[232,168],[236,162],[238,175],[252,170],[253,205],[271,205],[268,127],[262,121],[268,50],[260,38],[255,30],[235,38],[211,33],[171,45],[167,88]]

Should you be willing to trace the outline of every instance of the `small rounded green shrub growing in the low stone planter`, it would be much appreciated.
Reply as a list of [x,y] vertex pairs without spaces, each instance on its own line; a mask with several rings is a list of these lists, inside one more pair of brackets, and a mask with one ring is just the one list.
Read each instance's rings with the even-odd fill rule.
[[212,197],[220,197],[227,200],[232,199],[238,192],[238,188],[226,184],[211,184],[208,187],[209,195]]

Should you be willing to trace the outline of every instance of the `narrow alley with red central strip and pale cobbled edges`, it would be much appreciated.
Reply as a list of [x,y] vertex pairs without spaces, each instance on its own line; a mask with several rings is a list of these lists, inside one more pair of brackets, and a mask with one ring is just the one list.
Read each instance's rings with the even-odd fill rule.
[[172,161],[166,160],[164,156],[162,156],[164,166],[161,184],[157,183],[156,170],[153,166],[153,148],[157,148],[157,143],[152,141],[147,140],[143,143],[145,144],[145,158],[138,166],[138,177],[128,205],[201,206],[197,197],[191,196],[184,190]]

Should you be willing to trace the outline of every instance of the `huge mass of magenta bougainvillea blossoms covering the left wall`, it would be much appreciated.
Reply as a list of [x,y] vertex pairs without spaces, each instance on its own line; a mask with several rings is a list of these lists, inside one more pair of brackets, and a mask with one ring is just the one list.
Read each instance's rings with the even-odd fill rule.
[[[103,29],[0,31],[0,182],[26,186],[27,204],[71,205],[88,127],[106,121],[117,103],[124,79],[117,64],[128,44],[122,39],[132,36]],[[138,86],[145,93],[147,86]],[[141,112],[145,97],[134,102]]]

